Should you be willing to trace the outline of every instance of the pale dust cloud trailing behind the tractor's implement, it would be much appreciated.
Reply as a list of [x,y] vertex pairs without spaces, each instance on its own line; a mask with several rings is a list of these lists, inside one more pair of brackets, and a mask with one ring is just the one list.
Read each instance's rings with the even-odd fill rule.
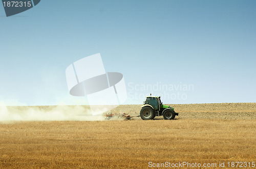
[[[103,107],[102,107],[103,108]],[[0,103],[0,123],[13,121],[102,121],[86,106],[6,106]]]

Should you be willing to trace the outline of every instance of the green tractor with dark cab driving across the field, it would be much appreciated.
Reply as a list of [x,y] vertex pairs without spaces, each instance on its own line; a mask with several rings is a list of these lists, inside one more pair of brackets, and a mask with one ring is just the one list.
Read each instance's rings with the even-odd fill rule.
[[144,105],[141,106],[140,117],[143,120],[151,120],[156,116],[163,116],[165,120],[172,120],[175,116],[179,116],[179,114],[174,111],[173,107],[163,105],[160,96],[148,96],[146,101],[144,101]]

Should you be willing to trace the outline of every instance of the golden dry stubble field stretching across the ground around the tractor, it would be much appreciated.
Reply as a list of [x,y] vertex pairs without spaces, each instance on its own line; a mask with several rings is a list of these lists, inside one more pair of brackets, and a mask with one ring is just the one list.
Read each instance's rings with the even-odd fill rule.
[[[171,106],[179,112],[172,121],[2,121],[0,168],[150,168],[165,162],[212,168],[244,162],[256,168],[251,166],[256,163],[256,103]],[[29,108],[8,107],[20,114]],[[121,105],[113,112],[130,110],[138,115],[140,105]]]

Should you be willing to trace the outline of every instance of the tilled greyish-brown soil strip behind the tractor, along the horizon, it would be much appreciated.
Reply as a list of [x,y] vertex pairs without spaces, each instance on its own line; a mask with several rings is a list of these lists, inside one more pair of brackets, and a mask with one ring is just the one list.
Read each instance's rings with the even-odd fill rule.
[[[176,119],[256,119],[256,103],[166,104],[174,107]],[[141,105],[120,105],[113,112],[139,115]],[[136,112],[136,113],[135,113]],[[159,117],[163,119],[163,117]]]

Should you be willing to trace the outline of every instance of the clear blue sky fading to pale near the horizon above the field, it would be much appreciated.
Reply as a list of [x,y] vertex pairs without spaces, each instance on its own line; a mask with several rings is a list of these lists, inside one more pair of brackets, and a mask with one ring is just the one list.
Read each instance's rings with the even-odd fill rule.
[[65,70],[95,53],[107,72],[123,74],[126,104],[150,93],[163,103],[256,102],[255,9],[256,1],[42,0],[6,17],[0,5],[0,102],[85,104],[69,95]]

